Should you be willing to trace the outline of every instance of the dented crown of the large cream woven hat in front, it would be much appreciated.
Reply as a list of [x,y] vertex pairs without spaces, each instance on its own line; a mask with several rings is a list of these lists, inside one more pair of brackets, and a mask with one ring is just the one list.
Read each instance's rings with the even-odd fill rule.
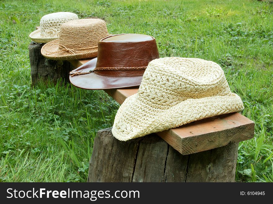
[[229,85],[217,63],[197,58],[165,57],[149,63],[138,97],[164,109],[187,99],[228,93]]

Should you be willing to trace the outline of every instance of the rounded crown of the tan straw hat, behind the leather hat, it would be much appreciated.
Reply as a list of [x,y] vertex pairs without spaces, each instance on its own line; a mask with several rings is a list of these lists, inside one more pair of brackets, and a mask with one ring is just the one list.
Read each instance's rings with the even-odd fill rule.
[[99,40],[108,35],[104,20],[71,20],[61,25],[59,44],[70,49],[97,48]]

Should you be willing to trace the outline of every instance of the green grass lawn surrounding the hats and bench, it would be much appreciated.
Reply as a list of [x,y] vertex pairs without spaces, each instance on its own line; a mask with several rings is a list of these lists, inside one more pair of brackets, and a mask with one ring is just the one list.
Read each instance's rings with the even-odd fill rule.
[[273,181],[273,5],[256,0],[1,1],[0,181],[86,181],[96,131],[119,107],[102,91],[31,87],[28,35],[58,11],[104,19],[111,34],[152,35],[160,57],[220,64],[255,121],[254,138],[239,144],[236,181]]

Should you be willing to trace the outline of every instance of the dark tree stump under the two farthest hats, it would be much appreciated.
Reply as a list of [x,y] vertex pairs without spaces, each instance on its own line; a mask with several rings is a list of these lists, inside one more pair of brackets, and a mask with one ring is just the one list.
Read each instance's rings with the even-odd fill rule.
[[35,85],[39,80],[51,81],[54,84],[56,84],[58,79],[69,82],[69,72],[75,68],[69,61],[55,61],[43,57],[41,49],[44,44],[33,41],[29,44],[32,85]]

